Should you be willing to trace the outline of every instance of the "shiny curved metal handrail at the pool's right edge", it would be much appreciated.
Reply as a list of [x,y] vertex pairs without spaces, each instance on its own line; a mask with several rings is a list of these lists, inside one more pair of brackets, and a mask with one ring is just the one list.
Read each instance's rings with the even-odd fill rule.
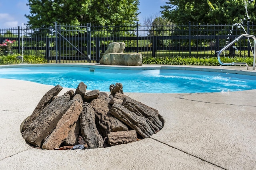
[[247,67],[247,70],[249,70],[249,65],[247,63],[222,63],[222,61],[220,60],[220,54],[222,53],[222,51],[226,50],[228,47],[230,47],[231,45],[233,45],[236,41],[238,41],[239,39],[241,39],[242,37],[250,37],[254,39],[254,52],[253,52],[253,64],[252,64],[252,69],[255,70],[255,60],[256,60],[256,37],[254,35],[249,35],[249,34],[242,34],[239,37],[237,37],[234,41],[232,41],[231,43],[229,43],[228,45],[226,45],[226,47],[222,48],[220,51],[216,51],[217,53],[217,57],[218,57],[218,61],[221,65],[223,66],[230,66],[230,65],[245,65]]

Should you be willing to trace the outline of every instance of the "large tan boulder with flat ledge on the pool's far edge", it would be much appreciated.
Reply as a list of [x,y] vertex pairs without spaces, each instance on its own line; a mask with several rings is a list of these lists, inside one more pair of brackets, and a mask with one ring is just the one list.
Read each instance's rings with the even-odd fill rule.
[[100,64],[141,66],[142,55],[140,53],[123,53],[125,43],[110,43],[108,49],[100,59]]

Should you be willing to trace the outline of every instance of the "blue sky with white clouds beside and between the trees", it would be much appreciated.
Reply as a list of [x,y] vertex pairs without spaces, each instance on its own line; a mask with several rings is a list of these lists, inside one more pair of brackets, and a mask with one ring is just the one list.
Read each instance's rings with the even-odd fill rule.
[[[160,14],[160,6],[164,6],[168,0],[139,0],[138,15],[139,23],[144,22],[144,18]],[[1,0],[0,1],[0,29],[22,26],[28,19],[29,7],[26,6],[28,0]]]

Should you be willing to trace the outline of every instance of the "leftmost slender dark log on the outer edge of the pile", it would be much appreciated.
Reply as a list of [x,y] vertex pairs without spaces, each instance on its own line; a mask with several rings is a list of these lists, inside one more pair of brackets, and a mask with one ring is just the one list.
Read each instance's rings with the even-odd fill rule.
[[32,123],[38,117],[38,115],[42,112],[42,110],[48,104],[50,104],[50,102],[52,102],[53,97],[58,95],[61,90],[62,90],[62,86],[57,85],[54,88],[52,88],[51,90],[49,90],[48,92],[46,92],[46,94],[44,94],[44,96],[42,97],[42,99],[40,100],[40,102],[38,103],[36,108],[34,109],[32,115],[28,118],[28,120],[26,120],[24,122],[24,125],[22,127],[22,132],[28,128],[30,123]]

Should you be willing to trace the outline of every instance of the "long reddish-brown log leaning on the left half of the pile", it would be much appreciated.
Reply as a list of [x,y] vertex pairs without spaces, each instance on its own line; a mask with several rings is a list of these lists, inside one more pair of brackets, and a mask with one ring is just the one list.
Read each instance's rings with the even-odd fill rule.
[[78,101],[71,100],[70,102],[71,106],[64,115],[62,115],[62,118],[58,121],[54,131],[52,131],[46,141],[44,141],[42,149],[58,148],[64,142],[66,137],[68,137],[70,127],[76,123],[82,111],[82,105]]

